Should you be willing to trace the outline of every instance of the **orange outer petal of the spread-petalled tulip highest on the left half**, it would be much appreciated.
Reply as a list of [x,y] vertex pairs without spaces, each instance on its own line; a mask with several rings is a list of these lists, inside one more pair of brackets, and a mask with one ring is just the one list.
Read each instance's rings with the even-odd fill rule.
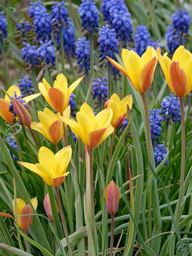
[[62,91],[56,88],[51,88],[48,90],[48,97],[52,108],[60,113],[63,112],[66,98]]

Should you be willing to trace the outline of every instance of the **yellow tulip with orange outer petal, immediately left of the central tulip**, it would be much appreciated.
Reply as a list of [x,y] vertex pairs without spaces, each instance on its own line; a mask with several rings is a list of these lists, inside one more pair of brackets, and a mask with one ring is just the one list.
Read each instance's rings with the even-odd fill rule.
[[[69,118],[70,106],[63,111],[63,116]],[[32,122],[31,128],[40,132],[45,138],[53,144],[58,144],[64,134],[63,122],[50,109],[38,112],[40,122]]]

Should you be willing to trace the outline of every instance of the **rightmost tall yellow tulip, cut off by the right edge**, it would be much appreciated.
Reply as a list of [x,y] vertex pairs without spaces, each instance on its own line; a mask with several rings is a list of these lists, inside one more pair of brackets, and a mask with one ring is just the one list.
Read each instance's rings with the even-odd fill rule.
[[157,55],[169,89],[183,98],[192,90],[192,54],[184,46],[179,46],[172,60],[168,58],[167,52],[162,56],[160,48],[157,49]]

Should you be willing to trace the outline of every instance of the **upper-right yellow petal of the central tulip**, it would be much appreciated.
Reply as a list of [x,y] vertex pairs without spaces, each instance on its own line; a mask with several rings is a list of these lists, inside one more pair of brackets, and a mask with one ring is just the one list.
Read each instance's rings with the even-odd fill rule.
[[112,115],[113,112],[111,108],[107,108],[99,112],[95,117],[97,129],[108,126],[111,122]]

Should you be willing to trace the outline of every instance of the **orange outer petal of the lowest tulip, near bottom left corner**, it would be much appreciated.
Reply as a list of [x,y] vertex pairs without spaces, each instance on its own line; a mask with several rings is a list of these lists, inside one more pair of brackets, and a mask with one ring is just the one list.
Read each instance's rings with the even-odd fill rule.
[[33,214],[33,210],[29,204],[27,204],[22,209],[22,212],[21,212],[21,215],[28,215],[28,214],[29,216],[18,217],[20,219],[20,229],[22,229],[23,231],[27,231],[33,221],[33,216],[30,215],[30,214]]

